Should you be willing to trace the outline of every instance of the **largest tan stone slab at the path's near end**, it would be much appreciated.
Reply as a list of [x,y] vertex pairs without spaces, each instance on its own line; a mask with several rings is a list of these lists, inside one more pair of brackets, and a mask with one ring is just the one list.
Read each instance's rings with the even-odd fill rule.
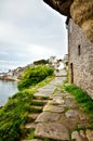
[[38,124],[36,131],[36,137],[40,138],[50,138],[53,140],[61,140],[61,141],[69,141],[69,133],[65,126],[61,124],[45,124],[41,123]]

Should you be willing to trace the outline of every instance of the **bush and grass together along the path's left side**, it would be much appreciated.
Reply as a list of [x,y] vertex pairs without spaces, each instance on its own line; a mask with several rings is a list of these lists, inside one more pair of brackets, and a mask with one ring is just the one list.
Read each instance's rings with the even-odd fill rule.
[[[0,110],[0,141],[18,141],[21,137],[25,136],[24,126],[29,123],[28,115],[42,111],[38,106],[42,106],[43,103],[32,101],[35,99],[34,94],[40,87],[54,78],[54,76],[51,76],[52,74],[53,69],[45,66],[27,68],[24,72],[23,80],[18,84],[21,91],[10,98]],[[36,78],[36,76],[39,76],[39,78]],[[29,134],[30,139],[32,137],[34,131]]]

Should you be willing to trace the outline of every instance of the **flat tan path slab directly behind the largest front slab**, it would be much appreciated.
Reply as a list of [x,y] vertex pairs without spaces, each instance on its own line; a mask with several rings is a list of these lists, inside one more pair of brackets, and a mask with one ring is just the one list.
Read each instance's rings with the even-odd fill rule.
[[40,123],[51,121],[52,123],[52,121],[57,121],[58,118],[59,118],[59,114],[57,113],[43,112],[38,116],[38,118],[36,119],[36,123],[37,121],[40,121]]

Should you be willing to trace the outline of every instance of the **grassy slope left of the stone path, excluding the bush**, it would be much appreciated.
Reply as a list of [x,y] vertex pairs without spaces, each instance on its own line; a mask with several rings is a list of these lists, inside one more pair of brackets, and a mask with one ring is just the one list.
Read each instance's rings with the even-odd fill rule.
[[[38,89],[49,84],[54,76],[45,78],[35,87],[18,91],[8,103],[0,108],[0,141],[16,141],[25,133],[24,125],[29,121],[29,113],[40,113],[41,108],[35,106],[41,106],[42,102],[32,102],[34,94]],[[30,137],[32,134],[30,133]]]

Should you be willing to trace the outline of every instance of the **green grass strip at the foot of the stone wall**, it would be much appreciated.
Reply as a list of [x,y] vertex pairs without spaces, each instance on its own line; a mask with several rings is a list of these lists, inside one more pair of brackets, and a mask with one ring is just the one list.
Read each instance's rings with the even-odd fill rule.
[[76,100],[88,114],[91,120],[93,120],[93,100],[82,89],[75,85],[65,86],[65,90],[75,95]]

